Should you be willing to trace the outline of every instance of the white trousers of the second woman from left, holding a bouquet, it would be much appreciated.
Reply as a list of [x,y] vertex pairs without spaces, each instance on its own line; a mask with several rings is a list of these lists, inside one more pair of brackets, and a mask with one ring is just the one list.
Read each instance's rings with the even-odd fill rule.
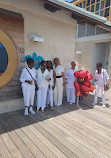
[[36,101],[36,106],[37,108],[44,108],[46,107],[46,98],[47,98],[47,88],[41,87],[37,91],[37,101]]

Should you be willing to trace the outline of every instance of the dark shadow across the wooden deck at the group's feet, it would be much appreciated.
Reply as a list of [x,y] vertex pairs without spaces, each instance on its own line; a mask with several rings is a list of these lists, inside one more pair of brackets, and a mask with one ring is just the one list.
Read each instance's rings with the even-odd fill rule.
[[[89,95],[79,102],[82,110],[93,109],[93,95]],[[99,105],[101,105],[101,98],[98,98]],[[109,107],[109,105],[107,105]],[[35,110],[35,109],[34,109]],[[47,119],[53,119],[57,116],[79,110],[76,104],[68,104],[65,100],[62,106],[55,106],[54,110],[49,107],[45,109],[45,112],[39,111],[35,115],[29,114],[24,116],[24,110],[14,111],[6,114],[0,115],[0,134],[7,133],[16,129],[21,129],[22,127],[27,127],[33,125],[37,122],[41,122]]]

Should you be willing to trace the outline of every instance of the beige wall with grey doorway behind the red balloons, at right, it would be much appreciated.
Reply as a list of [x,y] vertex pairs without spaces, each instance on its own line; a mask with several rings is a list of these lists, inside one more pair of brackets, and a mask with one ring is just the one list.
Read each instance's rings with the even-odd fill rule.
[[[94,75],[94,71],[96,69],[93,65],[93,62],[102,62],[108,61],[108,74],[110,77],[110,85],[111,85],[111,40],[110,39],[103,39],[102,40],[91,40],[93,37],[88,37],[89,40],[85,41],[85,38],[78,39],[75,43],[75,52],[81,51],[82,54],[75,54],[75,60],[77,63],[77,68],[80,70],[87,69],[91,71]],[[94,37],[96,39],[96,37]],[[98,53],[98,56],[96,56],[96,53]],[[94,55],[95,54],[95,55]],[[94,67],[94,70],[92,69],[92,66]],[[104,68],[106,68],[104,63]],[[111,87],[111,86],[110,86]]]

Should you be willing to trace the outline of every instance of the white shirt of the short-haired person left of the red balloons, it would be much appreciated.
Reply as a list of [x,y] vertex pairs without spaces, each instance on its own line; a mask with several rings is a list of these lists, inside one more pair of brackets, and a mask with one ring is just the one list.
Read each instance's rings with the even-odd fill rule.
[[65,78],[67,78],[68,83],[66,84],[67,88],[74,88],[74,82],[76,81],[76,77],[74,76],[74,73],[77,71],[77,69],[68,69],[66,72]]

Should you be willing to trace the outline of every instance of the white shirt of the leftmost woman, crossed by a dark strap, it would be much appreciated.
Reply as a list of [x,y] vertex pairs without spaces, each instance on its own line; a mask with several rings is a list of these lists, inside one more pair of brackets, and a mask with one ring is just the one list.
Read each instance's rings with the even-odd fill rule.
[[[29,74],[29,72],[31,73],[31,75]],[[30,69],[29,67],[26,68],[23,68],[22,70],[22,73],[21,73],[21,76],[20,76],[20,82],[22,82],[22,87],[26,87],[26,88],[30,88],[30,89],[34,89],[35,88],[35,85],[31,85],[27,82],[25,82],[26,80],[28,81],[33,81],[33,80],[36,80],[36,69],[33,67],[32,69]]]

